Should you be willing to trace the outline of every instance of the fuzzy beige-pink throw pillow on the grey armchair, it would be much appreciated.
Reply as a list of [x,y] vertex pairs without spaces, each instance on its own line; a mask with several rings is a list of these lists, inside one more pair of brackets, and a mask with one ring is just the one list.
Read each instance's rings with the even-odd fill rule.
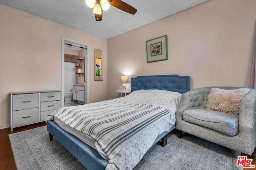
[[212,88],[208,95],[206,108],[239,114],[240,105],[248,92],[250,92],[248,88],[238,88],[234,90]]

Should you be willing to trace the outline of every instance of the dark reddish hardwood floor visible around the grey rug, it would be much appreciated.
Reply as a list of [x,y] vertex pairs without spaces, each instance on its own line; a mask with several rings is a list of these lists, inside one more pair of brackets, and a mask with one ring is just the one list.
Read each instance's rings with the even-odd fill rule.
[[[17,170],[8,135],[11,133],[26,131],[28,129],[33,129],[33,128],[41,127],[45,125],[46,123],[37,123],[34,125],[18,127],[18,128],[14,128],[13,132],[10,131],[10,128],[0,129],[0,170]],[[248,156],[248,157],[253,159],[252,165],[256,165],[256,149],[254,150],[254,153],[252,154],[252,156]],[[256,168],[244,168],[244,170],[253,170],[253,169],[256,169]]]

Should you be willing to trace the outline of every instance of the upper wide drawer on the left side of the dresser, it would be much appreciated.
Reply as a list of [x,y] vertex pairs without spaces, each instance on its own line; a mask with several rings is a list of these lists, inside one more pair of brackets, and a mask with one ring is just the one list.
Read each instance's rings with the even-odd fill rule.
[[14,94],[12,95],[12,102],[14,111],[39,107],[39,94]]

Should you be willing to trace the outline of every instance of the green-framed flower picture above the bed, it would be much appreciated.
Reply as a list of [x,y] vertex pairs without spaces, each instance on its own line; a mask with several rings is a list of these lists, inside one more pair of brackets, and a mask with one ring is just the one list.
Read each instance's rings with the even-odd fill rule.
[[168,60],[167,35],[146,41],[147,63]]

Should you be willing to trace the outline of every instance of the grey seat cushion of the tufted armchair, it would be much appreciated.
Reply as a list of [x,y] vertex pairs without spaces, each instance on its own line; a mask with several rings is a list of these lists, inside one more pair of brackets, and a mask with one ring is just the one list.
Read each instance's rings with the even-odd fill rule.
[[[239,115],[210,109],[189,109],[182,113],[184,121],[214,129],[230,136],[238,134]],[[196,130],[196,129],[195,129]]]

